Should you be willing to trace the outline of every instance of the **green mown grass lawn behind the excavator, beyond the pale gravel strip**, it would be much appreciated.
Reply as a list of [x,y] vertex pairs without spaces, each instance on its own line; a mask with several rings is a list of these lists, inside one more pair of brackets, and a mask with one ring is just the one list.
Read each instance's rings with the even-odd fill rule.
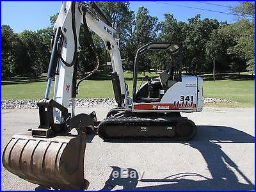
[[[132,74],[126,74],[129,76]],[[126,81],[132,93],[132,81]],[[3,84],[2,100],[4,99],[42,99],[45,93],[46,81],[22,82],[18,84]],[[140,86],[140,82],[138,82]],[[53,87],[53,86],[52,86]],[[52,91],[51,91],[52,95]],[[114,97],[112,83],[106,81],[87,80],[79,87],[78,98]],[[232,104],[217,104],[224,107],[253,107],[254,81],[219,80],[204,82],[204,97],[216,97],[235,101]]]

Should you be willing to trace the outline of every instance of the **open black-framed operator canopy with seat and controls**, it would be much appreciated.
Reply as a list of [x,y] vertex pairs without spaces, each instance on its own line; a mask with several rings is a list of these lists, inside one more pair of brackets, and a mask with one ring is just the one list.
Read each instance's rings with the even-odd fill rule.
[[[164,51],[170,55],[170,61],[166,68],[159,74],[159,77],[150,79],[147,77],[147,83],[142,84],[137,90],[138,67],[140,66],[140,56],[146,51]],[[176,58],[175,58],[176,57]],[[177,59],[178,57],[178,59]],[[177,59],[177,62],[173,61]],[[181,81],[182,67],[182,46],[179,42],[150,42],[138,49],[134,61],[133,74],[133,102],[159,102],[164,92],[173,84]]]

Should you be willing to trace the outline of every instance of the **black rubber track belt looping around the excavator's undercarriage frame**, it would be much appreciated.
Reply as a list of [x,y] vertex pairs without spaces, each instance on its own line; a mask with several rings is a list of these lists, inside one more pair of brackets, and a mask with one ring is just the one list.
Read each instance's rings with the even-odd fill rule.
[[[191,134],[186,137],[179,136],[177,134],[177,130],[175,130],[175,136],[108,136],[106,134],[106,129],[108,129],[108,126],[116,125],[116,129],[122,125],[137,125],[137,126],[148,126],[148,125],[156,125],[157,126],[166,126],[166,124],[170,124],[171,126],[173,124],[179,125],[183,123],[190,124],[191,127],[193,127],[191,130]],[[175,127],[175,126],[174,126]],[[175,127],[175,129],[179,129],[179,127]],[[188,141],[191,140],[196,135],[196,125],[194,122],[189,120],[188,118],[182,117],[182,116],[154,116],[154,115],[143,115],[140,113],[118,113],[117,115],[111,116],[109,118],[106,118],[105,120],[102,120],[102,122],[99,125],[98,134],[100,138],[104,141]]]

